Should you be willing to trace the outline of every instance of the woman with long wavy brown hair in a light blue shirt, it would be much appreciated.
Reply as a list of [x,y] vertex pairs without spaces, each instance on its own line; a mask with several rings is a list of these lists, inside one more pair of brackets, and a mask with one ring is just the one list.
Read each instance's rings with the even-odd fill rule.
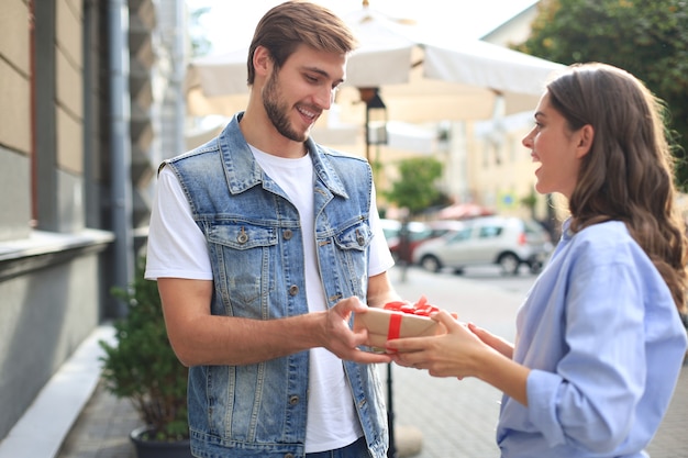
[[447,334],[389,340],[402,366],[503,392],[504,458],[646,457],[686,355],[686,238],[662,104],[630,74],[572,66],[523,138],[540,193],[570,216],[517,317],[515,345],[446,312]]

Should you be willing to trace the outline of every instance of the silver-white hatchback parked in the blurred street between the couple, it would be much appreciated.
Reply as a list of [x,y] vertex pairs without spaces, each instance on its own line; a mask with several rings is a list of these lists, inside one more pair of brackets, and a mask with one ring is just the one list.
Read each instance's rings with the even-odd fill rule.
[[486,216],[460,222],[463,227],[418,246],[413,264],[460,273],[468,266],[499,265],[515,275],[521,265],[537,273],[552,253],[547,232],[536,222],[519,217]]

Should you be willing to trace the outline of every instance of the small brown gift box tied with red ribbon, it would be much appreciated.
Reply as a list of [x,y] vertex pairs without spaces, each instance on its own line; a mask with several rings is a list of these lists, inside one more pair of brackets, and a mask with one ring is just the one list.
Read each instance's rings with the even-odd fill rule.
[[424,299],[415,304],[392,302],[385,309],[370,308],[354,315],[354,331],[368,329],[368,343],[373,351],[385,351],[385,343],[392,338],[433,336],[444,327],[430,319],[439,309],[428,305]]

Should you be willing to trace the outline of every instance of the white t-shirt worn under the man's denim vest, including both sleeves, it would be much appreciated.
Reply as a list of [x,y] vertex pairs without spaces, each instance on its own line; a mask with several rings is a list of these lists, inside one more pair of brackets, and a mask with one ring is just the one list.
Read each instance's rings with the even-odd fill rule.
[[[326,308],[318,260],[313,216],[313,164],[310,156],[287,159],[251,148],[258,165],[289,196],[299,211],[303,232],[306,297],[309,311]],[[379,224],[375,189],[370,200],[368,275],[388,270],[393,260]],[[202,255],[199,255],[202,254]],[[148,233],[147,279],[164,277],[212,280],[206,237],[191,215],[189,203],[176,176],[163,168],[153,203]],[[363,435],[342,361],[324,348],[310,350],[310,380],[306,453],[344,447]]]

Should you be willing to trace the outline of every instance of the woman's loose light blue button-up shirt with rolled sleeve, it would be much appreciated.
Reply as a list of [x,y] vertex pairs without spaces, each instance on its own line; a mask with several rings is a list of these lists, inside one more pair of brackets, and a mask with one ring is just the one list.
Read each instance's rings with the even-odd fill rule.
[[666,283],[621,222],[563,236],[519,311],[525,407],[502,399],[503,458],[646,457],[686,355]]

